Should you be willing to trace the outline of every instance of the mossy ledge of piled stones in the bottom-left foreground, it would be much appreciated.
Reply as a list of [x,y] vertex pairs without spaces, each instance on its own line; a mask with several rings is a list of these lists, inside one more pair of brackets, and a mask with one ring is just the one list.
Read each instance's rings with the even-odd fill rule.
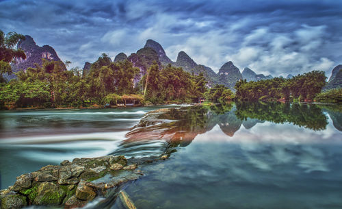
[[[163,155],[145,161],[166,158]],[[144,160],[129,161],[136,164],[128,164],[124,156],[75,158],[73,162],[64,160],[60,165],[47,165],[23,174],[16,177],[13,186],[0,190],[1,209],[31,205],[81,208],[95,197],[107,197],[109,191],[144,175],[137,170],[137,164]]]

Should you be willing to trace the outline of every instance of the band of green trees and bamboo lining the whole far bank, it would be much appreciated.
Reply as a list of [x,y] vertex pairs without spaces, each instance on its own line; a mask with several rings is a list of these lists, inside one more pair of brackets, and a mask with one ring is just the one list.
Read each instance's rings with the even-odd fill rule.
[[66,70],[69,61],[42,59],[6,82],[3,73],[12,73],[11,62],[25,59],[14,45],[25,36],[11,32],[0,42],[0,109],[16,108],[101,108],[150,106],[166,103],[211,101],[322,101],[342,103],[342,88],[322,92],[326,86],[323,71],[311,71],[291,78],[247,82],[239,79],[230,89],[213,86],[204,73],[188,73],[181,67],[161,65],[156,60],[142,63],[142,72],[129,60],[112,62],[103,53],[89,71],[76,67]]

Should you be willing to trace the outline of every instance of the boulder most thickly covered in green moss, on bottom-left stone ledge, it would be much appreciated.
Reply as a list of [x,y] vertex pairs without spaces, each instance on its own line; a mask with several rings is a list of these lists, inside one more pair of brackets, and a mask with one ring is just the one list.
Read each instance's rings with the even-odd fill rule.
[[66,193],[52,182],[43,182],[37,188],[37,196],[34,199],[36,205],[59,205]]

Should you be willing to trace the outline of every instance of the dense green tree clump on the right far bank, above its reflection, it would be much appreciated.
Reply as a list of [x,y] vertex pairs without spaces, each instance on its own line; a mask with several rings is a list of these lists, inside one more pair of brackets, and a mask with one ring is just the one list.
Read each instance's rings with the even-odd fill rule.
[[240,80],[235,84],[235,89],[237,99],[243,101],[274,101],[280,98],[288,101],[291,96],[299,100],[312,100],[325,84],[326,76],[323,71],[311,71],[291,79],[275,77],[257,82]]

